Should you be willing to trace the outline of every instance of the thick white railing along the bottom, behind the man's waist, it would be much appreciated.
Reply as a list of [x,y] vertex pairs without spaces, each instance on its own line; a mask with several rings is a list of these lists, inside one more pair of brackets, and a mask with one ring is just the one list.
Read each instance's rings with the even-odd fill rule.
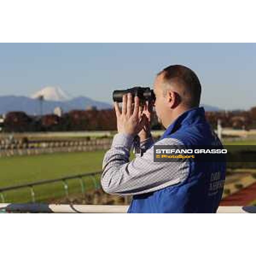
[[[0,212],[126,213],[128,205],[0,204]],[[220,206],[217,213],[256,213],[254,206]]]

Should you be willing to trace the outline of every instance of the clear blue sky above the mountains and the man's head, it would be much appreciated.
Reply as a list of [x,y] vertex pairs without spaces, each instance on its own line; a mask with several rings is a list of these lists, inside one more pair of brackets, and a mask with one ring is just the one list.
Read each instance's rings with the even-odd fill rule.
[[60,86],[111,102],[113,90],[150,85],[171,64],[198,74],[204,104],[256,106],[256,44],[0,44],[0,95]]

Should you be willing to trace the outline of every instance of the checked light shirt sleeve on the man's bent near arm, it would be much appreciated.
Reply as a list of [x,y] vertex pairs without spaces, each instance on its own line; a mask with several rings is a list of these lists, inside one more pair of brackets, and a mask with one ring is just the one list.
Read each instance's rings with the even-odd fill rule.
[[[154,162],[154,147],[130,162],[133,136],[116,134],[111,149],[102,164],[101,184],[105,192],[116,195],[139,195],[154,192],[182,182],[189,174],[189,163]],[[166,138],[154,145],[183,145],[179,140]]]

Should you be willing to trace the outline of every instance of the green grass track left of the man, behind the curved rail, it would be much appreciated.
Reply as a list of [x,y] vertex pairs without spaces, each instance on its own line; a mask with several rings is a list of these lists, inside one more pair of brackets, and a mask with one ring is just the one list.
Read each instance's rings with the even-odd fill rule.
[[[95,151],[1,158],[0,188],[101,171],[104,154],[105,151]],[[93,188],[91,178],[84,177],[83,180],[86,189]],[[78,179],[68,180],[67,183],[70,194],[81,192]],[[42,202],[64,196],[61,182],[35,186],[36,201]],[[4,197],[6,202],[31,201],[29,188],[4,192]]]

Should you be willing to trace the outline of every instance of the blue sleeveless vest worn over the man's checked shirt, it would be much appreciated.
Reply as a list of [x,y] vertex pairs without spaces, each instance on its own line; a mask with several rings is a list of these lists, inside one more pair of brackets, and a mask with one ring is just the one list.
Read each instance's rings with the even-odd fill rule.
[[[221,145],[205,118],[204,108],[192,108],[180,115],[160,140],[163,138],[174,138],[184,145]],[[128,212],[216,212],[221,201],[225,173],[224,162],[190,161],[186,180],[155,192],[134,195]]]

